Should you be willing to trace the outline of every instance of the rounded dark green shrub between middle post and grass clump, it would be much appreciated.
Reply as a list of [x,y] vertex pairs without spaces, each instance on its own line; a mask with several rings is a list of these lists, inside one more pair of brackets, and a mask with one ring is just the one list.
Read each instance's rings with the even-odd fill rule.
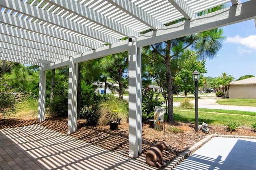
[[84,106],[83,108],[81,108],[77,117],[80,119],[86,119],[86,124],[88,126],[91,126],[97,124],[99,114],[96,112],[96,108],[94,108],[93,106]]

